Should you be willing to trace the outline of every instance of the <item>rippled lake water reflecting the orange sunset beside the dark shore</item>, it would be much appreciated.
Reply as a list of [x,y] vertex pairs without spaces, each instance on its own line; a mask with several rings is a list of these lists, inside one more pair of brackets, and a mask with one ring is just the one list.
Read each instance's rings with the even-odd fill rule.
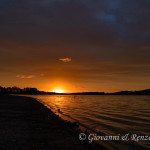
[[[98,135],[150,136],[150,96],[36,95],[38,101]],[[101,142],[111,149],[150,149],[150,141]]]

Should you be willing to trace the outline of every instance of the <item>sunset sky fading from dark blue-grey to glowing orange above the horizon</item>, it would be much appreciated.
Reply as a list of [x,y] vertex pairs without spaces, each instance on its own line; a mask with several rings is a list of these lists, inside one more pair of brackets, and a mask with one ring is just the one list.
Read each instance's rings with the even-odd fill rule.
[[150,88],[149,0],[0,0],[0,86]]

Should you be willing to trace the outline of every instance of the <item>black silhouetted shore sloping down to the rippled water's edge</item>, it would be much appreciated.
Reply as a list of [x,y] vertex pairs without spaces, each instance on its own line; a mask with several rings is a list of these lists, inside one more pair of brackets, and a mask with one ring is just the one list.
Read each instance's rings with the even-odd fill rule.
[[102,150],[33,98],[0,95],[0,150]]

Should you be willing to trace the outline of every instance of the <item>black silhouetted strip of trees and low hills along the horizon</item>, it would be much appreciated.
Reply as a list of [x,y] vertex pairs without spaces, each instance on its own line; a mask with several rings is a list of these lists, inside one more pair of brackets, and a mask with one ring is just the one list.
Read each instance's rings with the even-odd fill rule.
[[55,93],[39,91],[37,88],[1,87],[0,94],[57,94],[57,95],[150,95],[150,89],[141,91],[119,91],[114,93],[105,92],[79,92],[79,93]]

